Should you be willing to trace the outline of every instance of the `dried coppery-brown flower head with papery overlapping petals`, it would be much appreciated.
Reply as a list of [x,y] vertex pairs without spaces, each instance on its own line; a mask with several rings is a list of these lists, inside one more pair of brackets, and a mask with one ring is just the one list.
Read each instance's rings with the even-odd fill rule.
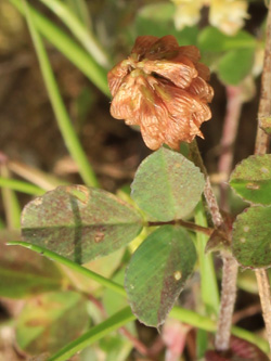
[[179,47],[171,35],[138,37],[130,56],[108,73],[112,116],[139,125],[154,151],[204,138],[199,127],[211,117],[207,103],[214,91],[199,57],[196,47]]

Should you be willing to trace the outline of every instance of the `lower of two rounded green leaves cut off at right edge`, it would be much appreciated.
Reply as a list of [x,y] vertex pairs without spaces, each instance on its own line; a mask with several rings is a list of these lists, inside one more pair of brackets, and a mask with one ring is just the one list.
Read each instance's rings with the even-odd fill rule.
[[255,206],[237,216],[233,223],[232,249],[244,267],[271,266],[271,207]]

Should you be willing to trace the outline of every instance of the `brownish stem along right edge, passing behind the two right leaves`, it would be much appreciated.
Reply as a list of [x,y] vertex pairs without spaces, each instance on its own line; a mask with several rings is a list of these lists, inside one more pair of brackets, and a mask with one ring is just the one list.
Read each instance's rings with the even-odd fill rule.
[[[267,43],[266,43],[266,53],[264,53],[264,62],[263,62],[263,72],[261,76],[261,95],[260,95],[260,104],[258,111],[258,129],[255,144],[256,155],[266,154],[269,147],[269,137],[268,134],[260,128],[260,120],[267,117],[270,117],[271,114],[271,1],[269,2],[268,10],[268,20],[267,20]],[[269,346],[271,349],[271,292],[268,280],[267,271],[263,269],[258,269],[255,271],[260,302],[262,308],[262,315],[266,323],[267,336]]]

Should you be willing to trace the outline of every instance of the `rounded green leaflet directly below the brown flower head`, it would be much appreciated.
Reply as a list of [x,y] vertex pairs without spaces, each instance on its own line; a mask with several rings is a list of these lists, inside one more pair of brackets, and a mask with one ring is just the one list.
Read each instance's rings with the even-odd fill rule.
[[169,221],[195,208],[204,184],[204,176],[192,162],[162,147],[141,163],[131,196],[152,219]]

